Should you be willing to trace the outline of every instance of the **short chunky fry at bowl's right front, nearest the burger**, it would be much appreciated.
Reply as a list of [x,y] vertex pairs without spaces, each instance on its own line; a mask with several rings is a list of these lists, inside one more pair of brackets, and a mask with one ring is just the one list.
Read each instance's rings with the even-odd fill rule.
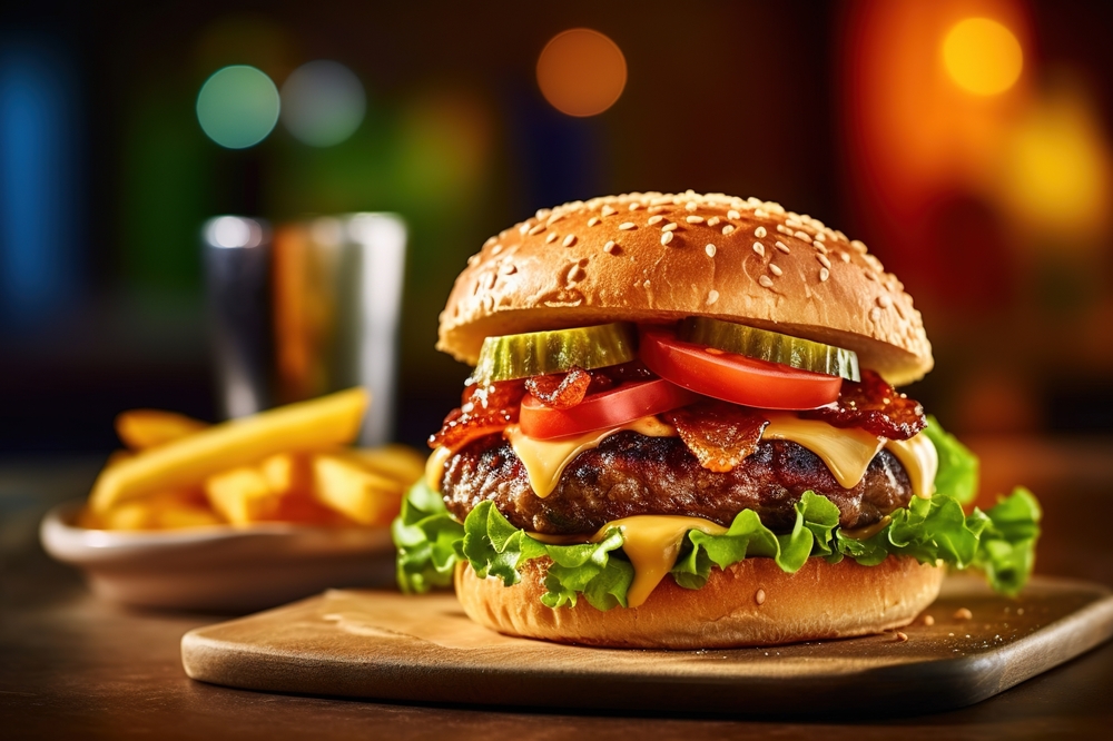
[[361,525],[387,525],[402,506],[405,486],[398,481],[366,471],[347,456],[313,456],[314,494]]

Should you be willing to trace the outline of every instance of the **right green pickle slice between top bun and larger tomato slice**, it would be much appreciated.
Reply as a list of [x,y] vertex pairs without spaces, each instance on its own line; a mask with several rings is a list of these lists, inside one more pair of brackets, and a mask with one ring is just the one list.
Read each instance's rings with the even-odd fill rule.
[[677,338],[801,370],[826,373],[854,382],[861,379],[858,355],[854,350],[733,322],[689,317],[680,323]]

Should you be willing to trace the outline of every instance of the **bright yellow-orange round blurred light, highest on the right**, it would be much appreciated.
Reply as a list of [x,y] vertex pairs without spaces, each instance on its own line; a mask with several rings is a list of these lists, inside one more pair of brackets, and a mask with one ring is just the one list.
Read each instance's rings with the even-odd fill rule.
[[988,18],[967,18],[944,38],[943,63],[951,79],[967,92],[995,96],[1016,83],[1024,52],[1005,26]]

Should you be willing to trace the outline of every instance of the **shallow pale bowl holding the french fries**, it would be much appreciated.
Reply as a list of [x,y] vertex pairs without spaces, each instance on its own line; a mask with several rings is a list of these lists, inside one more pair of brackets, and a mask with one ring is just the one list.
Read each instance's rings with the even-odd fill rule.
[[329,587],[394,585],[394,545],[385,527],[89,530],[76,525],[83,504],[56,506],[39,536],[47,553],[85,571],[93,593],[114,602],[246,612]]

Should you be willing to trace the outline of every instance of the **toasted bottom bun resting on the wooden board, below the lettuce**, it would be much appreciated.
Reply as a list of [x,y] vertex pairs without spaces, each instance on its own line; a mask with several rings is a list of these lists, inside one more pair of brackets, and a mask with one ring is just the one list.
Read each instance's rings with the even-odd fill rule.
[[700,590],[667,576],[639,607],[595,610],[541,604],[548,559],[529,562],[522,581],[503,586],[456,570],[467,616],[492,630],[560,643],[629,649],[729,649],[880,633],[907,625],[939,594],[945,569],[889,556],[876,566],[808,559],[786,574],[772,559],[712,567]]

